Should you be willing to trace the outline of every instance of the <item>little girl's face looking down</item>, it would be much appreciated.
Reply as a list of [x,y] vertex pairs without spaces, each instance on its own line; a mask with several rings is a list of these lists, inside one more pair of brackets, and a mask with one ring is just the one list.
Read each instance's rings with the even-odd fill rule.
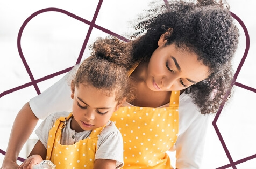
[[[104,90],[91,85],[72,82],[73,117],[71,128],[76,132],[104,126],[118,109],[115,95],[106,96]],[[113,92],[115,93],[115,92]]]

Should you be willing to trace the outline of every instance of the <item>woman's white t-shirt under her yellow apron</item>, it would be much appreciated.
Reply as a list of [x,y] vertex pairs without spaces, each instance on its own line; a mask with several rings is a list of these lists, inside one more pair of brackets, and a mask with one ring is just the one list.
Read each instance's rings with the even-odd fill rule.
[[[71,111],[70,79],[79,65],[40,95],[30,99],[30,107],[35,116],[45,119],[49,114]],[[124,106],[132,106],[124,103]],[[168,107],[163,105],[161,107]],[[182,93],[179,102],[179,133],[173,150],[176,150],[176,168],[200,168],[209,115],[202,115],[188,94]]]

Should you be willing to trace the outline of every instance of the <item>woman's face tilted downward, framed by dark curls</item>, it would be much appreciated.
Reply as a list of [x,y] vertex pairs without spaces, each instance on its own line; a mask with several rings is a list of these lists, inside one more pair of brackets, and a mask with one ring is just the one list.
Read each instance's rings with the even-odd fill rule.
[[163,35],[159,47],[148,63],[146,84],[153,91],[182,90],[196,84],[209,75],[209,68],[197,60],[197,55],[175,44],[164,45]]

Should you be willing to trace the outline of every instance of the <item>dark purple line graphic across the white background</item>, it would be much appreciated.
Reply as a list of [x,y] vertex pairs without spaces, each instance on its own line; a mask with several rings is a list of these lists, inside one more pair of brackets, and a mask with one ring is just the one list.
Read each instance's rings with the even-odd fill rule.
[[[167,0],[163,0],[163,1],[165,2],[166,5],[168,4],[168,1],[167,1]],[[54,8],[54,7],[50,7],[50,8],[46,8],[46,9],[41,9],[41,10],[38,10],[37,12],[34,12],[33,14],[31,14],[31,16],[29,16],[29,17],[23,22],[22,26],[21,26],[20,29],[19,29],[19,33],[18,33],[18,37],[17,37],[17,48],[18,48],[19,56],[20,56],[20,58],[22,59],[22,62],[23,62],[23,64],[24,64],[25,68],[26,68],[27,73],[29,74],[29,77],[30,77],[30,79],[31,79],[31,82],[25,83],[25,84],[23,84],[23,85],[20,85],[20,86],[18,86],[18,87],[15,87],[15,88],[12,88],[12,89],[9,89],[9,90],[6,90],[6,91],[3,91],[3,93],[0,93],[0,98],[3,97],[3,96],[5,96],[5,95],[8,95],[8,94],[10,94],[10,93],[13,93],[13,92],[15,92],[15,91],[17,91],[17,90],[20,90],[20,89],[23,89],[23,88],[26,88],[26,87],[29,87],[29,86],[32,86],[32,85],[34,86],[35,91],[37,91],[37,94],[39,95],[41,92],[40,92],[40,89],[39,89],[37,83],[42,82],[42,81],[45,81],[45,80],[48,80],[48,79],[51,79],[51,78],[54,78],[55,76],[61,75],[61,74],[63,74],[63,73],[67,73],[67,72],[69,72],[69,71],[75,66],[75,65],[74,65],[74,66],[72,66],[72,67],[68,67],[68,68],[66,68],[66,69],[64,69],[64,70],[61,70],[61,71],[59,71],[59,72],[55,72],[55,73],[50,74],[50,75],[47,75],[47,76],[44,76],[44,77],[42,77],[42,78],[40,78],[40,79],[34,79],[33,74],[32,74],[32,72],[30,71],[30,67],[29,67],[29,65],[27,64],[26,59],[25,59],[25,56],[23,55],[23,52],[22,52],[21,39],[22,39],[23,30],[24,30],[24,28],[26,27],[26,25],[29,23],[29,21],[30,21],[31,19],[33,19],[34,17],[36,17],[38,14],[41,14],[41,13],[44,13],[44,12],[49,12],[49,11],[52,11],[52,12],[60,12],[60,13],[66,14],[67,16],[72,17],[72,18],[74,18],[74,19],[76,19],[76,20],[79,20],[79,21],[83,22],[84,24],[89,25],[89,29],[88,29],[87,35],[86,35],[86,37],[85,37],[85,39],[84,39],[84,42],[83,42],[82,48],[81,48],[81,50],[80,50],[79,56],[77,57],[76,64],[79,64],[79,63],[81,62],[81,59],[82,59],[84,50],[86,49],[86,46],[87,46],[87,43],[88,43],[88,40],[89,40],[91,31],[93,30],[93,28],[96,28],[96,29],[98,29],[98,30],[101,30],[102,32],[105,32],[105,33],[107,33],[107,34],[109,34],[109,35],[115,36],[115,37],[117,37],[118,39],[123,40],[123,41],[125,41],[125,42],[129,42],[129,39],[127,39],[126,37],[123,37],[123,36],[121,36],[121,35],[118,35],[118,34],[116,34],[116,33],[114,33],[114,32],[111,32],[111,30],[105,29],[104,27],[101,27],[101,26],[95,24],[95,21],[96,21],[96,19],[97,19],[99,10],[101,9],[102,3],[103,3],[103,0],[99,0],[98,5],[97,5],[96,10],[95,10],[95,13],[94,13],[94,16],[93,16],[93,19],[92,19],[91,21],[88,21],[88,20],[83,19],[83,18],[81,18],[81,17],[79,17],[79,16],[76,16],[75,14],[70,13],[70,12],[68,12],[68,11],[66,11],[66,10],[59,9],[59,8]],[[252,88],[252,87],[249,87],[249,86],[246,86],[246,85],[243,85],[243,84],[241,84],[241,83],[239,83],[239,82],[236,82],[237,76],[238,76],[238,74],[239,74],[241,68],[243,67],[243,64],[244,64],[244,62],[245,62],[245,59],[246,59],[246,57],[247,57],[247,55],[248,55],[248,51],[249,51],[249,49],[250,49],[250,36],[249,36],[249,34],[248,34],[248,30],[247,30],[247,28],[246,28],[244,22],[243,22],[238,16],[236,16],[236,14],[234,14],[234,13],[232,13],[232,12],[230,12],[230,13],[231,13],[232,17],[233,17],[234,19],[236,19],[236,20],[239,22],[239,24],[241,25],[241,27],[242,27],[243,30],[244,30],[244,33],[245,33],[245,36],[246,36],[246,48],[245,48],[245,52],[244,52],[243,58],[240,60],[239,66],[238,66],[238,68],[237,68],[237,70],[236,70],[236,72],[235,72],[235,74],[234,74],[234,76],[233,76],[233,80],[232,80],[231,85],[230,85],[230,90],[226,93],[225,98],[227,98],[227,97],[229,96],[229,94],[230,94],[230,92],[231,92],[231,89],[232,89],[232,87],[233,87],[234,85],[236,85],[236,86],[238,86],[238,87],[240,87],[240,88],[244,88],[244,89],[246,89],[246,90],[252,91],[253,93],[256,93],[256,89],[254,89],[254,88]],[[225,99],[224,99],[224,100],[225,100]],[[216,132],[216,134],[218,135],[218,139],[219,139],[219,141],[221,142],[222,147],[223,147],[223,149],[224,149],[224,151],[225,151],[225,153],[226,153],[226,156],[227,156],[227,158],[229,159],[229,162],[230,162],[230,164],[226,164],[226,165],[221,166],[221,167],[219,167],[219,168],[222,169],[222,168],[229,168],[229,167],[232,167],[232,168],[236,169],[236,165],[237,165],[237,164],[244,163],[244,162],[246,162],[246,161],[248,161],[248,160],[251,160],[251,159],[253,159],[253,158],[256,158],[256,154],[255,154],[255,155],[252,155],[252,156],[248,156],[248,157],[243,158],[243,159],[240,159],[240,160],[237,160],[237,161],[235,161],[235,162],[233,161],[233,159],[232,159],[232,157],[231,157],[231,154],[230,154],[229,150],[227,149],[227,146],[226,146],[226,144],[225,144],[225,142],[224,142],[224,139],[223,139],[221,133],[219,132],[219,129],[218,129],[217,124],[216,124],[216,122],[217,122],[217,120],[218,120],[218,118],[219,118],[219,116],[220,116],[220,114],[221,114],[221,112],[222,112],[222,109],[223,109],[223,106],[224,106],[224,105],[225,105],[225,102],[223,102],[223,103],[221,104],[221,106],[219,107],[219,109],[218,109],[218,111],[217,111],[217,113],[216,113],[216,115],[215,115],[214,120],[212,121],[212,125],[214,126],[215,132]],[[1,153],[2,155],[5,155],[5,151],[2,150],[2,149],[0,149],[0,153]],[[24,158],[21,158],[21,157],[18,157],[18,160],[19,160],[20,162],[24,162],[25,159],[24,159]]]

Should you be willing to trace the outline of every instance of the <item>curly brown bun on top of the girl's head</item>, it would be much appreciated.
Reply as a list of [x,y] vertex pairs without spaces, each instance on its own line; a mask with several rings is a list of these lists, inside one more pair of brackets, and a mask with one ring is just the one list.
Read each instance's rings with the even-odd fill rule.
[[90,45],[91,55],[104,58],[111,63],[128,66],[131,57],[126,52],[126,42],[120,41],[116,37],[106,36],[98,39]]

